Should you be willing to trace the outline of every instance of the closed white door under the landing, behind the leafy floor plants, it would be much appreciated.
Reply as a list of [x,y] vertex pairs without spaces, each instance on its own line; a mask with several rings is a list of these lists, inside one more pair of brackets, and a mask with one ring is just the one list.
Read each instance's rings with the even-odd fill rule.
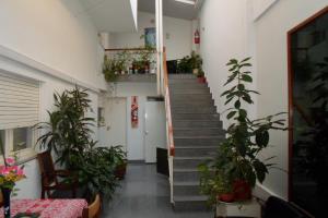
[[99,144],[122,145],[127,150],[127,99],[105,98],[104,108],[105,126],[99,133]]

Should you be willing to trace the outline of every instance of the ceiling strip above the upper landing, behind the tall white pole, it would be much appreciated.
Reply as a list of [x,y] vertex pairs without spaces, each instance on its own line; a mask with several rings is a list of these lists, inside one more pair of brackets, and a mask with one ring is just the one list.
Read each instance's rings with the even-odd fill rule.
[[[176,19],[192,20],[197,17],[198,9],[192,4],[163,0],[163,14]],[[155,0],[138,0],[138,10],[155,13]]]

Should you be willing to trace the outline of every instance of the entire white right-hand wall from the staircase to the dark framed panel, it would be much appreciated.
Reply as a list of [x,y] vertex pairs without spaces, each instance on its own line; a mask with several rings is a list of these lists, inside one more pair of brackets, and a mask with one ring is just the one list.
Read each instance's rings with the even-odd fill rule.
[[[225,108],[220,99],[227,75],[225,63],[251,56],[255,88],[261,93],[255,108],[250,107],[253,116],[288,111],[286,33],[327,4],[327,0],[207,0],[199,14],[200,50],[218,110]],[[226,119],[222,120],[226,128]],[[272,169],[257,191],[265,197],[286,198],[288,132],[272,131],[270,143],[262,157],[277,156],[277,167],[282,170]]]

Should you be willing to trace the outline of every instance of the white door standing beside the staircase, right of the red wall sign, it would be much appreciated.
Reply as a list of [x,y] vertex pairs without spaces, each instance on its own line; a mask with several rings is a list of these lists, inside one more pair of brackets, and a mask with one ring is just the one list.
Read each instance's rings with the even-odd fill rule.
[[156,162],[156,147],[166,148],[164,101],[145,102],[144,157],[145,162]]

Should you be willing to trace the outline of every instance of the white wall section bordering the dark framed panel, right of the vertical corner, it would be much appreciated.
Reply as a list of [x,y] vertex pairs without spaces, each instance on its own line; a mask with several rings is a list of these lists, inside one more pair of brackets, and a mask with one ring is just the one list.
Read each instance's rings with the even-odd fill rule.
[[[317,11],[327,7],[327,0],[280,0],[255,23],[258,71],[258,116],[288,111],[288,48],[286,33]],[[272,132],[267,156],[276,155],[278,167],[288,170],[288,132]],[[288,173],[272,170],[265,186],[288,197]]]

